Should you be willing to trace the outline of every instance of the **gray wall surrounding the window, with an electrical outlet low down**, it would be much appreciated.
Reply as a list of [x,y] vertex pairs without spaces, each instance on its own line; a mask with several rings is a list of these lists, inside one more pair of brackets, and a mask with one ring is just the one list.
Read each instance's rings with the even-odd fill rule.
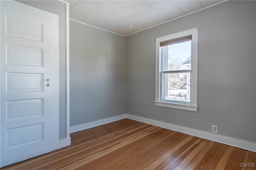
[[[198,112],[154,106],[155,39],[198,27]],[[126,113],[256,142],[256,2],[228,1],[126,37]]]

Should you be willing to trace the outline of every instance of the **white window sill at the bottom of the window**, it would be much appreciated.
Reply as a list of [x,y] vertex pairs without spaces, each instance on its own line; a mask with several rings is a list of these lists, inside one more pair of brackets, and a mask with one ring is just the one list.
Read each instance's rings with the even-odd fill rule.
[[155,102],[155,106],[170,107],[174,109],[197,111],[197,108],[198,108],[198,106],[189,105],[189,104],[178,104],[178,103],[169,103],[169,102],[160,102],[160,101],[154,101],[154,102]]

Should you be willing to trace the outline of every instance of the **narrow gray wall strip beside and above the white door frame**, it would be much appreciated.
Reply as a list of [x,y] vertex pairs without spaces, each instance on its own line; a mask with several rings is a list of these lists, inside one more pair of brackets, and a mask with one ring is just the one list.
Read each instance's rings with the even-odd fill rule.
[[57,0],[19,0],[23,4],[59,16],[59,129],[60,139],[66,138],[66,4]]

